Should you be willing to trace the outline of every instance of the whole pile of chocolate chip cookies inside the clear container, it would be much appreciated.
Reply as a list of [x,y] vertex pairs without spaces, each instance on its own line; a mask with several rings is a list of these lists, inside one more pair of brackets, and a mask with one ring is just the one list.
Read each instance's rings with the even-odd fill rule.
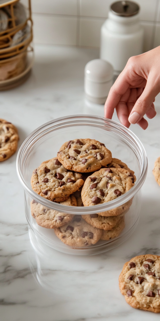
[[[103,143],[88,138],[64,143],[57,157],[33,171],[31,186],[53,202],[94,206],[123,195],[135,180],[134,172],[121,160],[112,158]],[[54,229],[63,243],[86,247],[117,237],[124,229],[124,215],[131,204],[132,200],[110,211],[73,215],[48,209],[33,200],[31,214],[38,225]]]

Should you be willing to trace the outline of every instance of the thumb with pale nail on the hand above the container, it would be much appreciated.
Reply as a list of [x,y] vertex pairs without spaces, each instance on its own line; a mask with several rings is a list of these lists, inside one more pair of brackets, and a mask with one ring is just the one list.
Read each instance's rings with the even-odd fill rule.
[[[156,79],[155,79],[156,78]],[[160,79],[159,76],[148,77],[146,87],[139,99],[136,101],[132,111],[129,115],[129,122],[136,124],[150,109],[156,95],[160,92]]]

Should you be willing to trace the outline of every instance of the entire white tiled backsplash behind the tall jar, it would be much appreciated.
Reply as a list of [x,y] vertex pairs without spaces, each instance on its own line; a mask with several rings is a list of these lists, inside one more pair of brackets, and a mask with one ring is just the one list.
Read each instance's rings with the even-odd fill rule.
[[[32,0],[34,40],[41,44],[100,46],[100,28],[113,0]],[[160,0],[136,0],[144,52],[160,45]],[[157,22],[156,22],[157,21]]]

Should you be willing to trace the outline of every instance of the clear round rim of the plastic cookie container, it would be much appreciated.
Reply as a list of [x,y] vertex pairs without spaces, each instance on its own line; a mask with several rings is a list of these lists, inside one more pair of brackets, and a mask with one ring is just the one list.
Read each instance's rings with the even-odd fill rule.
[[[95,124],[96,123],[96,124]],[[25,164],[26,157],[28,155],[28,151],[34,146],[34,144],[39,141],[43,136],[46,134],[49,134],[50,132],[55,131],[56,129],[60,128],[66,128],[67,126],[102,126],[104,127],[104,130],[108,131],[108,128],[110,126],[110,131],[114,129],[114,132],[116,134],[121,134],[120,136],[123,136],[123,139],[126,138],[128,143],[132,143],[132,150],[133,146],[135,149],[137,149],[136,152],[139,152],[139,157],[141,160],[141,175],[140,178],[137,179],[136,184],[125,194],[121,195],[121,197],[118,197],[117,199],[110,201],[108,203],[98,204],[94,206],[85,206],[85,207],[72,207],[72,206],[66,206],[59,203],[52,202],[46,198],[43,198],[42,196],[36,194],[28,185],[26,184],[26,181],[23,176],[23,166]],[[106,128],[105,128],[106,125]],[[122,135],[123,134],[123,135]],[[140,163],[139,160],[139,163]],[[39,164],[40,165],[40,164]],[[37,164],[37,166],[39,166]],[[147,161],[147,155],[146,151],[140,142],[139,138],[128,128],[125,126],[117,123],[114,120],[110,120],[105,117],[101,116],[94,116],[94,115],[69,115],[65,117],[60,117],[53,119],[42,126],[39,126],[36,128],[32,133],[28,135],[28,137],[25,139],[25,141],[22,143],[18,155],[17,155],[17,161],[16,161],[16,169],[17,169],[17,175],[20,180],[21,185],[23,186],[24,190],[28,193],[28,195],[33,198],[36,202],[52,209],[56,210],[58,212],[62,213],[68,213],[68,214],[94,214],[94,213],[100,213],[105,212],[108,210],[111,210],[113,208],[116,208],[125,202],[129,201],[142,187],[146,175],[147,175],[147,168],[148,168],[148,161]],[[34,170],[34,169],[33,169]]]

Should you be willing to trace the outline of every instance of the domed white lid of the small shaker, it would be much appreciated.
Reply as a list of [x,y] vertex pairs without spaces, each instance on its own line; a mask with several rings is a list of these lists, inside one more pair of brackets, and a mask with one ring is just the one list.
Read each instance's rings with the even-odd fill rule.
[[108,61],[94,59],[86,64],[84,74],[93,82],[107,82],[113,77],[113,67]]

